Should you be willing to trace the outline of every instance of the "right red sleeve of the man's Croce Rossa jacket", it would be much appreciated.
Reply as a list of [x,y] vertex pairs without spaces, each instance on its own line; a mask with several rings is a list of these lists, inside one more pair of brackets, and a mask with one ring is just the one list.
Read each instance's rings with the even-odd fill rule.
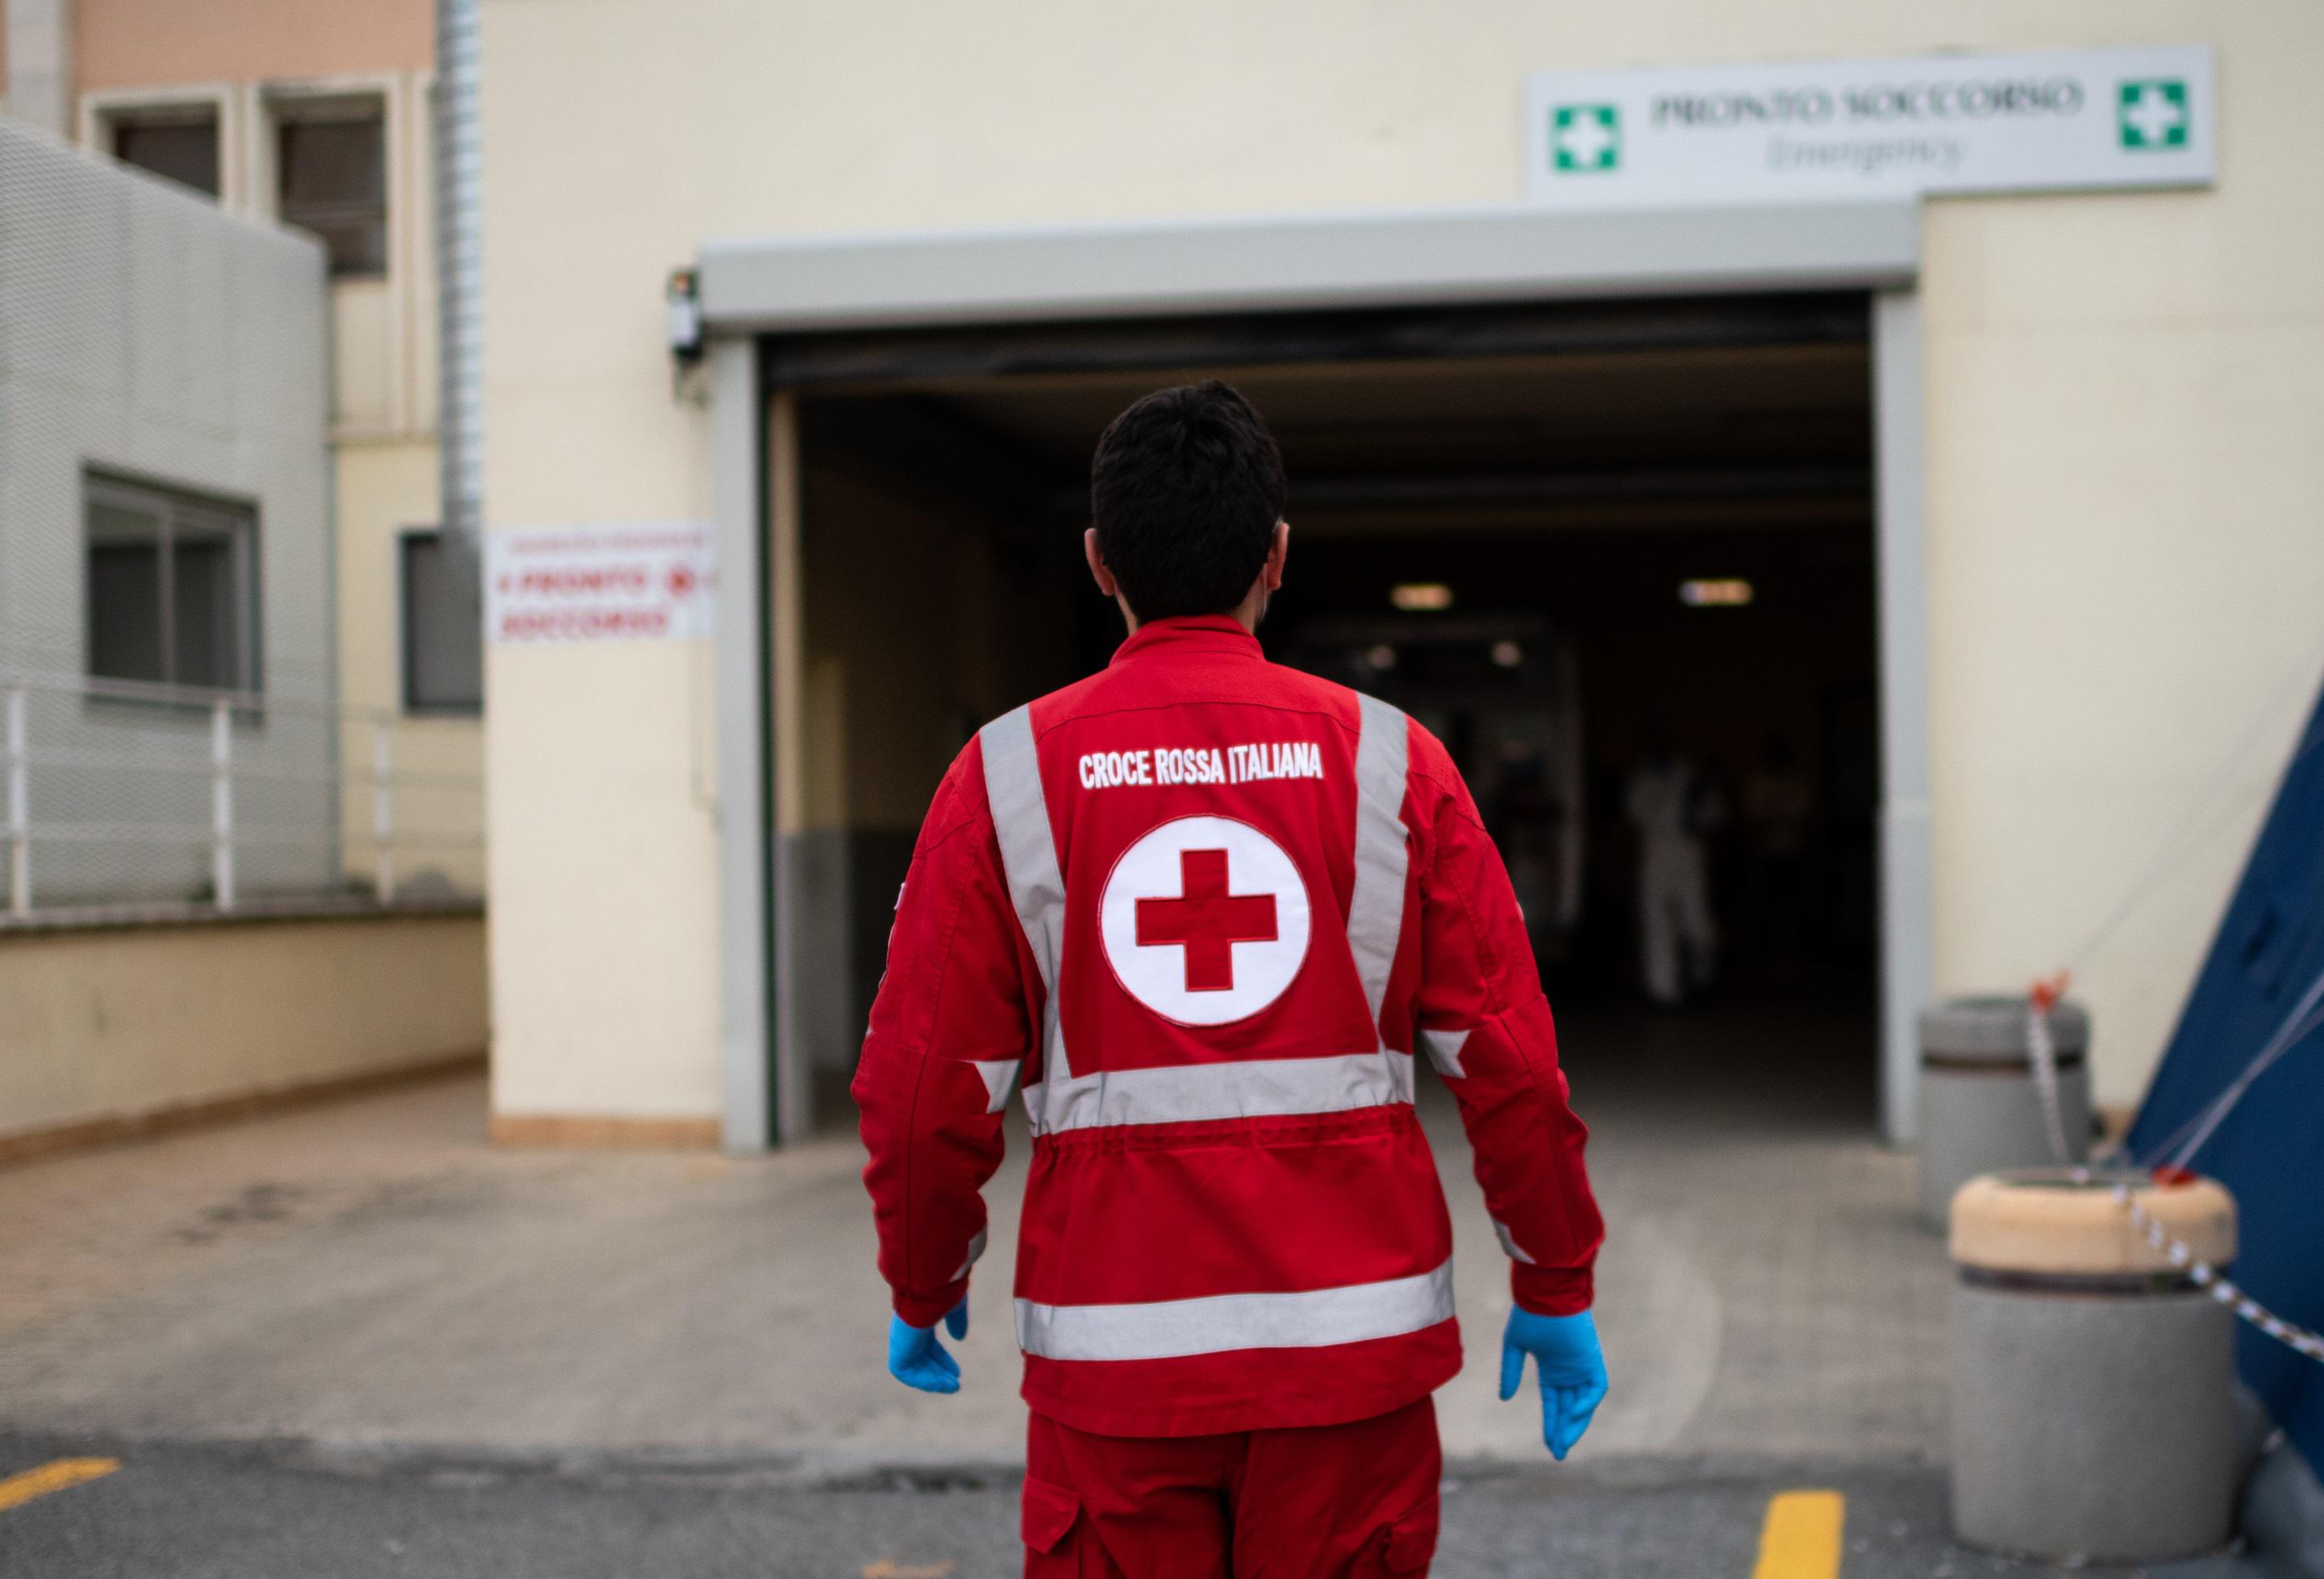
[[1590,1270],[1606,1237],[1583,1167],[1590,1130],[1566,1098],[1557,1026],[1501,853],[1446,749],[1420,726],[1411,746],[1420,867],[1415,1051],[1459,1102],[1518,1305],[1571,1316],[1590,1307]]

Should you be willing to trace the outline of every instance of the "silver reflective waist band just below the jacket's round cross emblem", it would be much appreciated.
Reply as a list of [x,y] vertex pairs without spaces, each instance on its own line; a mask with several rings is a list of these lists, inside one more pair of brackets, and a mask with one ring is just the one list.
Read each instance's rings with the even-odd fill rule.
[[[1043,1088],[1046,1086],[1046,1088]],[[1113,1123],[1192,1123],[1276,1114],[1343,1114],[1413,1100],[1411,1053],[1250,1058],[1157,1070],[1113,1070],[1027,1086],[1041,1091],[1043,1130]]]

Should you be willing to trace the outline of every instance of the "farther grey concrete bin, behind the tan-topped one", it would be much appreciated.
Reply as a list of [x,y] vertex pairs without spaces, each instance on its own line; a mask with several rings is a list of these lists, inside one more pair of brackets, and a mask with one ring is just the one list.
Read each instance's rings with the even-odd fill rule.
[[1920,1216],[1945,1226],[1952,1193],[1978,1174],[2089,1156],[2089,1012],[2050,1009],[2066,1156],[2050,1153],[2024,998],[1950,998],[1920,1012]]

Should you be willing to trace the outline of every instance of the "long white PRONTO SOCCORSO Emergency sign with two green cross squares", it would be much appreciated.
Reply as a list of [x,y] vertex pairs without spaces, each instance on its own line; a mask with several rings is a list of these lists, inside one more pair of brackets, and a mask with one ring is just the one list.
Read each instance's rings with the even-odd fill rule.
[[2210,186],[2210,47],[1527,79],[1527,193],[1562,209]]

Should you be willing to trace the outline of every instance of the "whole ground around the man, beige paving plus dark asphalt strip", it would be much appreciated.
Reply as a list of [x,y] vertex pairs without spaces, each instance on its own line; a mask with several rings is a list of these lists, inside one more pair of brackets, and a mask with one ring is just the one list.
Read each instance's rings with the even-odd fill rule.
[[[1471,1351],[1436,1572],[1743,1579],[1803,1486],[1845,1495],[1848,1579],[2045,1572],[1943,1535],[1948,1267],[1871,1139],[1862,1014],[1580,1014],[1564,1049],[1613,1395],[1564,1467],[1494,1400],[1506,1263],[1434,1091]],[[0,1579],[1018,1572],[1020,1135],[969,1386],[923,1398],[881,1367],[851,1135],[730,1160],[483,1121],[453,1081],[0,1174]],[[42,1477],[91,1456],[119,1467]]]

